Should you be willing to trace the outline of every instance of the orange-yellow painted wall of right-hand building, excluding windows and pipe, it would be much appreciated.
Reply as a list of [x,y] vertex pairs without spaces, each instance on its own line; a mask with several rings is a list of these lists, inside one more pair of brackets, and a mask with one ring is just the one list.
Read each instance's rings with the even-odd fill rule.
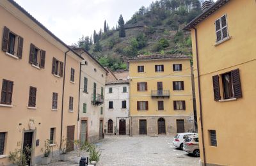
[[[253,0],[229,1],[196,26],[198,33],[198,61],[202,96],[206,163],[220,165],[253,165],[255,144],[244,146],[244,138],[255,138],[256,92],[256,3]],[[243,13],[243,14],[242,14]],[[214,45],[214,21],[227,14],[230,40]],[[198,75],[196,68],[195,30],[192,30],[198,129],[200,129]],[[232,102],[215,102],[212,76],[239,68],[243,97]],[[221,83],[221,80],[220,80]],[[221,89],[222,91],[222,89]],[[223,98],[223,93],[221,93]],[[217,147],[210,146],[208,130],[216,130]],[[202,153],[202,134],[200,155]]]

